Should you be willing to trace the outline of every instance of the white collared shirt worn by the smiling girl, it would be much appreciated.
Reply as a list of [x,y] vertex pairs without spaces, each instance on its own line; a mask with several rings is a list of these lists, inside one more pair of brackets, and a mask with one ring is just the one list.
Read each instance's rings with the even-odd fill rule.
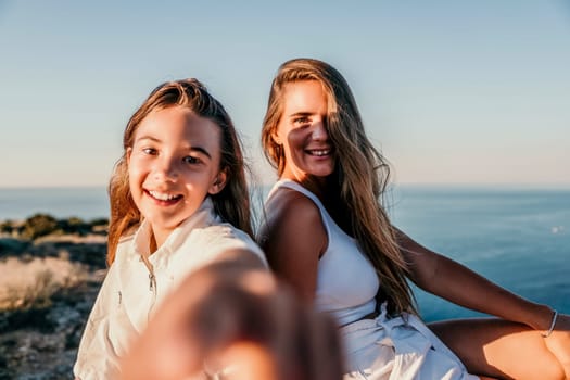
[[[79,343],[76,378],[116,378],[121,357],[164,297],[186,276],[227,250],[246,249],[267,266],[258,245],[245,232],[221,223],[210,199],[152,255],[150,237],[150,225],[143,221],[134,236],[119,242]],[[152,265],[154,279],[142,256]]]

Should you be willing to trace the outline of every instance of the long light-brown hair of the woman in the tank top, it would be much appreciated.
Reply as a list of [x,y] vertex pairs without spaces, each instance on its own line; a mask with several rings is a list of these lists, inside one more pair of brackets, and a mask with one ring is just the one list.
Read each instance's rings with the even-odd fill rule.
[[291,60],[279,67],[263,123],[264,153],[280,176],[284,152],[271,136],[282,116],[284,86],[304,80],[318,81],[327,94],[327,131],[337,154],[335,169],[330,178],[331,193],[337,193],[341,210],[349,216],[350,232],[381,281],[378,299],[387,300],[393,314],[416,313],[414,295],[406,281],[407,265],[382,206],[390,166],[366,136],[351,88],[334,67],[313,59]]

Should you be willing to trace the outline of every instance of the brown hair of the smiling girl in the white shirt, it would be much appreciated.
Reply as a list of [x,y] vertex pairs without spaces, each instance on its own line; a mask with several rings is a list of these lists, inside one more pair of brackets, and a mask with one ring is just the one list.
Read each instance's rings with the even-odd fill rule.
[[220,170],[226,172],[226,186],[210,195],[214,210],[225,220],[253,237],[250,198],[245,178],[245,163],[239,137],[228,113],[199,80],[181,79],[156,87],[130,117],[123,135],[123,155],[115,164],[109,183],[111,219],[109,224],[107,264],[115,259],[121,237],[130,233],[141,221],[129,189],[127,150],[132,147],[140,123],[152,111],[170,106],[183,106],[200,117],[214,122],[221,131]]

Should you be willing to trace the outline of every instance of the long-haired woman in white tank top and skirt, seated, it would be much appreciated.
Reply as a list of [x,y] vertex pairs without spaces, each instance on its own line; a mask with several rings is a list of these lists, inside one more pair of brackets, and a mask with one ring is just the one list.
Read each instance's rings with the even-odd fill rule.
[[[259,243],[271,268],[341,325],[346,379],[570,377],[570,316],[491,283],[391,225],[380,203],[389,167],[337,69],[317,60],[282,64],[262,143],[279,181]],[[499,318],[428,328],[406,278]]]

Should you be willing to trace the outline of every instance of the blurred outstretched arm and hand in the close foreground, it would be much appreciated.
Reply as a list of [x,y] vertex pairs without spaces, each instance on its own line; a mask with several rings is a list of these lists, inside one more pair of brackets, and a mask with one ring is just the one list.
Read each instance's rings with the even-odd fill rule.
[[266,269],[241,263],[190,275],[131,346],[123,380],[342,378],[333,321]]

